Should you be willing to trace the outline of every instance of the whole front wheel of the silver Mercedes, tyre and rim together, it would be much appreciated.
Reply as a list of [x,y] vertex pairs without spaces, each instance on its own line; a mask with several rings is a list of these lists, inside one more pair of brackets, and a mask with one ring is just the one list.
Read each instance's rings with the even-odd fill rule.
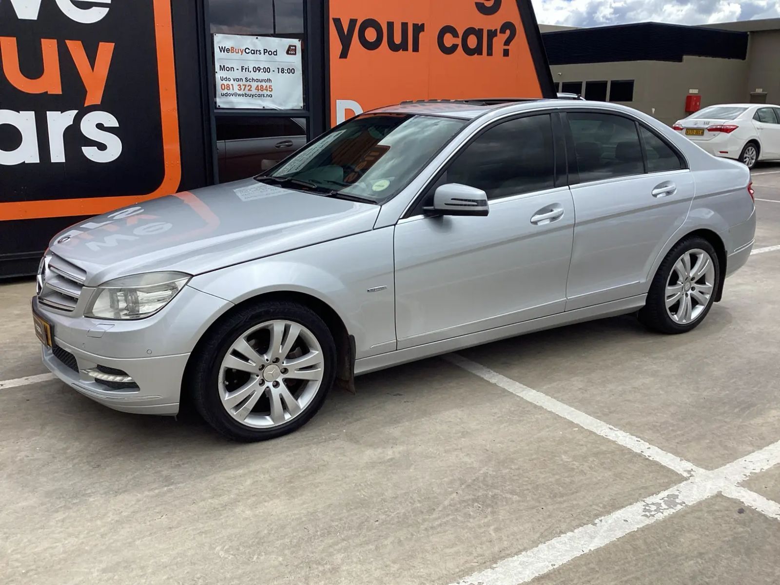
[[308,307],[271,302],[230,314],[198,349],[190,377],[207,423],[237,441],[295,431],[335,377],[335,343]]

